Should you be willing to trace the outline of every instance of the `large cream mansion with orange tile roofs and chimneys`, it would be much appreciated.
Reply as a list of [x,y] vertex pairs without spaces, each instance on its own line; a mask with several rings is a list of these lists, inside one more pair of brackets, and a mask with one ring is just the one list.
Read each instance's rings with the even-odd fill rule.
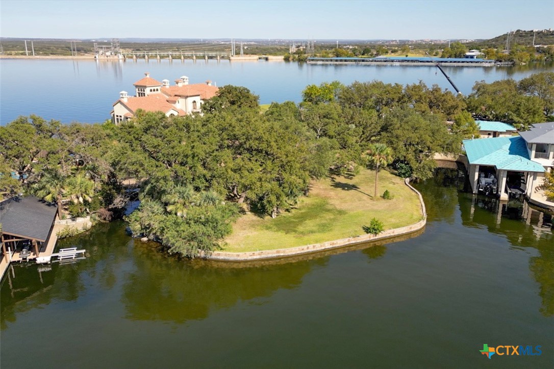
[[119,100],[113,105],[111,117],[115,124],[132,119],[138,109],[161,111],[166,116],[200,112],[204,100],[213,98],[218,91],[212,86],[212,81],[189,84],[188,77],[182,76],[170,86],[167,79],[158,82],[150,77],[150,73],[145,73],[145,77],[133,85],[136,95],[129,96],[127,91],[121,91]]

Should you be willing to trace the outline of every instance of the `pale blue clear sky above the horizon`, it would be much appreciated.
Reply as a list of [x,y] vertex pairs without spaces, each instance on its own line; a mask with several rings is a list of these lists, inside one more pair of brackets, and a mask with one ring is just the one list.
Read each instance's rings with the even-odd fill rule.
[[554,28],[554,1],[0,1],[23,38],[491,38]]

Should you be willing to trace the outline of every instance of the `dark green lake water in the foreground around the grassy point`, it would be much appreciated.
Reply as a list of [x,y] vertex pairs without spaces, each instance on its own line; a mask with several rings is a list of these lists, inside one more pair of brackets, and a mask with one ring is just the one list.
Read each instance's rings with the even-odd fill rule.
[[[423,233],[292,260],[176,260],[97,225],[59,243],[85,260],[8,270],[0,364],[552,368],[551,215],[444,186],[455,178],[417,184]],[[542,355],[489,360],[483,344]]]

